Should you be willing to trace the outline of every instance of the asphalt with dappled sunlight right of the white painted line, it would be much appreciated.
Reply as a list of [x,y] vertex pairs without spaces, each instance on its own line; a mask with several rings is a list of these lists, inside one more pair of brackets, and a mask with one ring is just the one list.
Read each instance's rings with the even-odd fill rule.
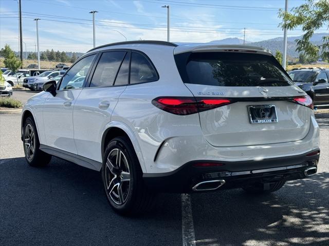
[[192,196],[196,245],[329,245],[329,173],[268,195]]

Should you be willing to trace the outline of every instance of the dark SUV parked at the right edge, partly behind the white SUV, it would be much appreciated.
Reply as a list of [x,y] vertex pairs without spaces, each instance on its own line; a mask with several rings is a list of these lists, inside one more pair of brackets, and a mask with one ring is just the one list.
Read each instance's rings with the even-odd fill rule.
[[288,72],[295,85],[312,97],[314,104],[329,104],[329,70],[301,69]]

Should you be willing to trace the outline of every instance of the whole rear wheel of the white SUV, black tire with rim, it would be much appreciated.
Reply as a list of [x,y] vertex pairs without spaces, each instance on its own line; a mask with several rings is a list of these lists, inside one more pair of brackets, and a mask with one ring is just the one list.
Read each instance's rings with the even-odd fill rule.
[[[117,165],[116,155],[121,156],[120,165]],[[111,207],[122,215],[136,215],[150,210],[154,194],[144,185],[142,170],[130,139],[125,136],[112,139],[103,159],[102,180]]]

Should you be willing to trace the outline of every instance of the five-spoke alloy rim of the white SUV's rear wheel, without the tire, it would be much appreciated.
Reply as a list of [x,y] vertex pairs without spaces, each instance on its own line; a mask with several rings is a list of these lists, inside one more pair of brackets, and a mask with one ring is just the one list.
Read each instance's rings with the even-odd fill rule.
[[108,196],[122,205],[129,195],[131,175],[127,158],[120,149],[113,149],[107,156],[105,181]]

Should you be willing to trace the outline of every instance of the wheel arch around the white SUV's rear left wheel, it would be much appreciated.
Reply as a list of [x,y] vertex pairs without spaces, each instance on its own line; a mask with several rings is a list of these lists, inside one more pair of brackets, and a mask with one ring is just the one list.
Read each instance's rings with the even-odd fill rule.
[[135,133],[128,126],[126,126],[123,122],[118,122],[118,121],[116,121],[116,122],[112,121],[111,123],[106,125],[106,127],[104,129],[105,130],[103,131],[102,138],[101,138],[102,139],[101,140],[102,160],[103,160],[104,151],[105,151],[108,141],[110,141],[111,139],[113,139],[115,137],[127,136],[129,138],[129,140],[131,141],[132,146],[134,147],[134,151],[139,160],[142,172],[145,173],[146,172],[145,163],[144,163],[142,152],[141,152],[140,146],[138,144],[138,140],[137,140]]

